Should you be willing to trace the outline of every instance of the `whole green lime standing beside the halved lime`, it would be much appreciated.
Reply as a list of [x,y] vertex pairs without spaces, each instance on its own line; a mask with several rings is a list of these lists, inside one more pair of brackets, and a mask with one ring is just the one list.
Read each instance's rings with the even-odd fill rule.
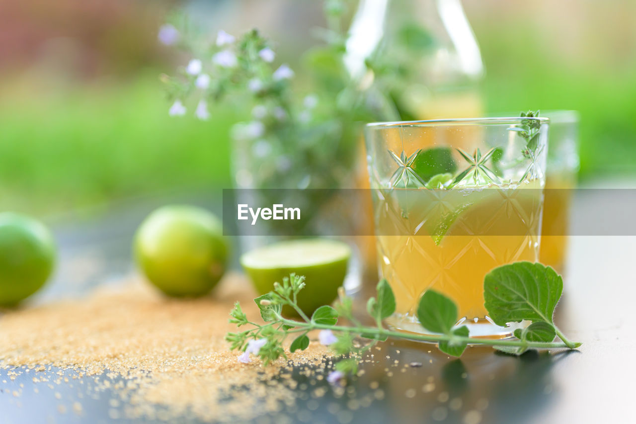
[[229,246],[219,219],[193,206],[163,206],[135,235],[135,260],[163,293],[204,295],[225,272]]

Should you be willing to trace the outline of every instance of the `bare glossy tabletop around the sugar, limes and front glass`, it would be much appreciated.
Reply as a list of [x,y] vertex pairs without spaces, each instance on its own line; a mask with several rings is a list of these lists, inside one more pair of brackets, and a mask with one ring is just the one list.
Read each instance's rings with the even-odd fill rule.
[[[192,203],[191,198],[135,200],[97,219],[56,220],[60,267],[35,302],[70,293],[80,296],[98,283],[129,274],[130,237],[142,218],[167,201]],[[205,199],[197,202],[212,204]],[[574,210],[584,211],[585,204],[579,202]],[[579,350],[529,351],[515,358],[473,347],[452,360],[426,344],[389,341],[374,352],[377,363],[363,364],[364,374],[345,395],[321,381],[318,384],[328,388],[326,395],[314,399],[307,392],[283,414],[292,422],[312,423],[631,422],[636,395],[636,341],[635,331],[630,330],[636,300],[636,237],[577,236],[570,244],[569,272],[556,322],[570,339],[583,342]],[[393,366],[396,360],[399,367]],[[403,367],[410,362],[422,367]],[[34,372],[15,380],[7,372],[0,370],[2,423],[121,421],[122,406],[113,406],[116,395],[108,390],[85,396],[81,385],[53,390],[39,383],[36,393]],[[294,378],[299,383],[307,379],[300,372]],[[378,382],[377,388],[371,381]],[[22,395],[14,397],[18,388]],[[73,402],[80,397],[83,412],[73,414]],[[60,413],[60,403],[66,405],[66,413]],[[257,421],[275,421],[270,418]]]

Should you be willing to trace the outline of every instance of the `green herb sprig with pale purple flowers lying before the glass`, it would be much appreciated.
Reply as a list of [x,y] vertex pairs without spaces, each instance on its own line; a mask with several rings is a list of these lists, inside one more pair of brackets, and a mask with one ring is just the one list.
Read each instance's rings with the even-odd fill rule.
[[[283,343],[288,336],[294,339],[289,346],[292,353],[309,346],[308,333],[321,330],[319,340],[328,344],[333,352],[343,358],[335,365],[331,380],[355,373],[359,359],[378,341],[388,337],[437,343],[439,350],[453,357],[462,355],[468,344],[485,344],[495,349],[520,355],[528,349],[575,349],[581,345],[569,341],[553,322],[556,303],[561,297],[563,280],[551,267],[530,262],[502,265],[487,274],[484,279],[485,306],[488,316],[497,325],[512,322],[531,322],[525,329],[516,329],[511,339],[483,339],[469,336],[466,325],[458,324],[457,306],[445,295],[427,290],[417,307],[417,318],[431,334],[404,333],[384,327],[383,321],[396,311],[396,301],[391,286],[385,279],[377,285],[376,297],[367,303],[367,312],[375,326],[363,325],[353,313],[353,302],[340,290],[334,307],[321,306],[311,317],[307,316],[296,299],[305,286],[305,278],[291,274],[282,283],[275,283],[274,290],[254,299],[264,323],[251,322],[237,302],[230,313],[230,322],[237,327],[251,328],[230,332],[226,340],[232,350],[244,351],[239,360],[245,362],[249,353],[257,355],[267,365],[277,358],[286,358]],[[282,307],[289,306],[298,313],[300,320],[282,315]],[[343,318],[349,325],[338,325]],[[557,337],[560,342],[555,342]],[[253,348],[259,341],[259,349]],[[247,357],[245,356],[247,352]]]

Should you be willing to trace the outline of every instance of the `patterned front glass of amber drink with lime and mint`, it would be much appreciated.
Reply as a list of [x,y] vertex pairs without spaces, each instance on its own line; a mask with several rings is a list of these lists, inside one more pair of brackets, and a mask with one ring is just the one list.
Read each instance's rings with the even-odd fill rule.
[[[471,336],[507,337],[484,307],[495,267],[539,259],[547,118],[467,118],[366,127],[378,271],[396,330],[427,333],[417,307],[450,297]],[[518,324],[517,327],[522,324]]]

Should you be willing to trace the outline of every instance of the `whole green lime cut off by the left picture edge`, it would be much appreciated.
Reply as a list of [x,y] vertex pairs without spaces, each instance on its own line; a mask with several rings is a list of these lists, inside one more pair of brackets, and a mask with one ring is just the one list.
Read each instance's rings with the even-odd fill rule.
[[55,243],[28,216],[0,213],[0,305],[15,306],[37,292],[53,271]]

